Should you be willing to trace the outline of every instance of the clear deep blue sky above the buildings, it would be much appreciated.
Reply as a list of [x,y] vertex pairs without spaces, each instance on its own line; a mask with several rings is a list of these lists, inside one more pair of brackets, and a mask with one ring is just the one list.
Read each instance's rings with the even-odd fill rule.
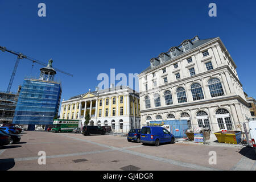
[[[47,16],[39,18],[38,4]],[[217,17],[208,16],[210,2]],[[220,36],[237,65],[243,89],[256,98],[255,1],[13,1],[0,0],[0,46],[53,67],[63,86],[61,100],[95,89],[99,73],[140,73],[150,59],[184,39]],[[0,90],[6,90],[16,57],[0,52]],[[41,65],[21,60],[12,91]],[[117,84],[117,82],[116,82]]]

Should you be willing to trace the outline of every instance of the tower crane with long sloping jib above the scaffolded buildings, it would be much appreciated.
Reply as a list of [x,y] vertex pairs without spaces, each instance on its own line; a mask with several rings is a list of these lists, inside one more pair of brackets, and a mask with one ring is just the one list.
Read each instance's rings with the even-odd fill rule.
[[[10,53],[12,53],[12,54],[17,56],[16,63],[15,63],[14,69],[13,69],[13,74],[11,75],[11,79],[10,79],[10,82],[9,82],[9,85],[8,85],[8,88],[7,88],[7,92],[10,92],[10,90],[11,90],[11,85],[13,85],[14,76],[15,76],[16,70],[18,68],[19,61],[21,59],[27,59],[27,60],[32,61],[32,63],[38,63],[38,64],[41,64],[43,66],[47,66],[47,64],[43,63],[42,61],[39,61],[39,60],[33,59],[32,57],[23,55],[20,52],[11,51],[11,50],[7,49],[6,47],[0,46],[0,50],[3,51],[3,52],[5,52],[5,51],[6,52],[10,52]],[[66,75],[73,76],[72,74],[64,72],[64,71],[61,71],[60,69],[57,69],[57,68],[53,68],[53,69],[55,69],[55,71],[57,71],[57,72],[61,72],[61,73],[64,73]]]

